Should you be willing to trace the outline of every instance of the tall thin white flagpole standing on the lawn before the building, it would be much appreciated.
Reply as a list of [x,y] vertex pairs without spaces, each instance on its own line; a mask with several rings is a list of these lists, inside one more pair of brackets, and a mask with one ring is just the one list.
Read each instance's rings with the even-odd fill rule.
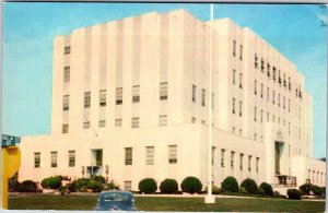
[[213,4],[211,3],[211,22],[210,22],[210,69],[209,69],[209,185],[206,203],[215,203],[215,198],[212,194],[212,73],[213,73]]

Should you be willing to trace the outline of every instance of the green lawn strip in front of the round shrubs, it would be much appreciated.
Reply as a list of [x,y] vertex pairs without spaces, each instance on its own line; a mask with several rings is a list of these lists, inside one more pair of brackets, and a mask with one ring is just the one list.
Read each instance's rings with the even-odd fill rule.
[[[93,210],[95,196],[28,196],[9,198],[10,210]],[[192,212],[324,212],[325,202],[283,199],[220,198],[204,204],[202,198],[136,197],[141,211]]]

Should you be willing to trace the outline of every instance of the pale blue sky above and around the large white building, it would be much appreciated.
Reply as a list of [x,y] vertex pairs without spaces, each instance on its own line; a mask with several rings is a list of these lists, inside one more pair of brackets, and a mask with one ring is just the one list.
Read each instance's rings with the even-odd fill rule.
[[[50,133],[52,39],[72,29],[151,11],[186,9],[209,20],[209,4],[24,3],[3,7],[2,131]],[[215,4],[214,19],[231,17],[265,38],[305,76],[313,96],[314,156],[326,156],[327,28],[319,5]]]

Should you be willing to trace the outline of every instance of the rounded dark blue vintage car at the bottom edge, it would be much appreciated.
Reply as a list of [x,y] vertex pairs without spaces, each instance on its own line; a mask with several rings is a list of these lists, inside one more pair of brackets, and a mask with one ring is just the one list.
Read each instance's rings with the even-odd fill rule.
[[104,191],[99,194],[96,211],[137,211],[134,198],[128,191]]

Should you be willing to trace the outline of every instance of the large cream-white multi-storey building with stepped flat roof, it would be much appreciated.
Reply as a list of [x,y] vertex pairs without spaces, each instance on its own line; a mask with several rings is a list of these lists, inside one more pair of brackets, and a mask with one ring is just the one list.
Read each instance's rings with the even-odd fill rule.
[[152,12],[57,36],[51,106],[50,135],[22,138],[21,181],[103,175],[138,190],[147,177],[196,176],[206,186],[211,127],[214,185],[325,185],[304,76],[230,19]]

